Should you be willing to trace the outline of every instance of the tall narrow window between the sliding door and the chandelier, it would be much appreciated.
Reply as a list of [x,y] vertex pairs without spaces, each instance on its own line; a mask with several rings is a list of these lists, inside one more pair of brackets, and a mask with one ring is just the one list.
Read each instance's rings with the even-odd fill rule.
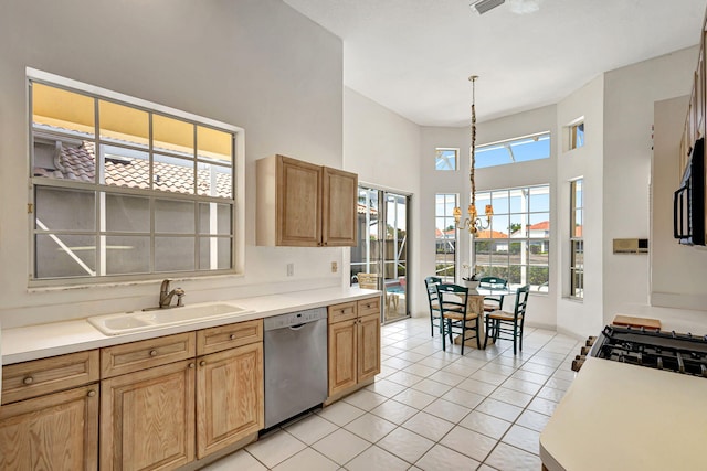
[[454,206],[457,195],[437,193],[435,195],[435,276],[445,281],[456,279],[456,229],[454,228]]

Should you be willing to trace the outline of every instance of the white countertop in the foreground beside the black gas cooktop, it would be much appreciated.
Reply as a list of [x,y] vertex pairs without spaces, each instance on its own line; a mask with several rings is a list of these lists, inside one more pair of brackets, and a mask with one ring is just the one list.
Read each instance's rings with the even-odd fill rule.
[[540,435],[549,471],[705,470],[707,378],[588,357]]

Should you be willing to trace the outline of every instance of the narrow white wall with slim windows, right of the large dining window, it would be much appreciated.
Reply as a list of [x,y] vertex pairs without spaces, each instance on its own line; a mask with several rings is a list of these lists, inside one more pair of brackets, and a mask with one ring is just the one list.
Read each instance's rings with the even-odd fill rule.
[[[555,148],[557,161],[555,224],[558,254],[557,283],[557,328],[562,332],[578,335],[595,334],[604,325],[602,301],[604,269],[602,263],[603,240],[603,182],[604,182],[604,76],[572,93],[558,104]],[[579,118],[584,119],[584,146],[569,150],[568,125]],[[571,300],[570,292],[570,180],[583,179],[583,225],[584,238],[584,299]]]

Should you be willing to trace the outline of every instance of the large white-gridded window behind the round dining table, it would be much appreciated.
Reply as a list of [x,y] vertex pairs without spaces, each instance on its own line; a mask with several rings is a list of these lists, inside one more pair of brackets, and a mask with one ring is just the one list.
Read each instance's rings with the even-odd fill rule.
[[476,193],[476,206],[492,204],[490,227],[474,238],[474,264],[483,276],[497,276],[515,287],[548,291],[550,186]]

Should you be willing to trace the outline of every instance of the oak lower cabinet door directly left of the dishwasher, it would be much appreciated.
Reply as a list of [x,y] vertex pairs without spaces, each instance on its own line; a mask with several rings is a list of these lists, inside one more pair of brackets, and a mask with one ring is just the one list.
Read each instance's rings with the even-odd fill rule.
[[263,344],[212,353],[197,370],[197,453],[203,458],[263,428]]

